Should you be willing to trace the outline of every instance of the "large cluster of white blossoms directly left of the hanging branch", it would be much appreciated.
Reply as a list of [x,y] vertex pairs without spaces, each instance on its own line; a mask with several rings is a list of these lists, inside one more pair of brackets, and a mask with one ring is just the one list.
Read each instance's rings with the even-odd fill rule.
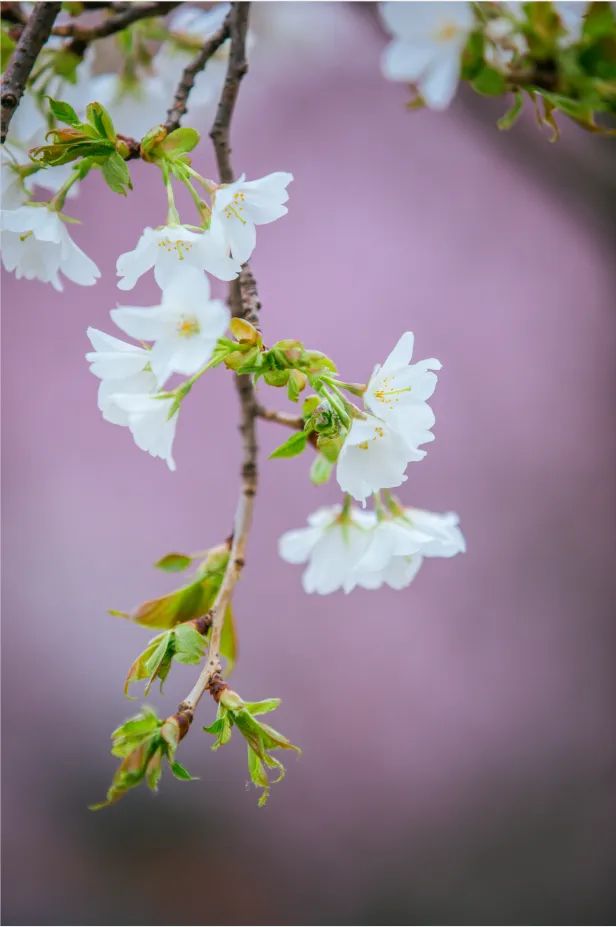
[[[161,288],[156,306],[111,310],[118,328],[139,344],[88,329],[94,351],[86,359],[101,381],[103,418],[127,426],[137,446],[165,460],[170,470],[175,469],[172,447],[180,404],[210,365],[230,320],[226,304],[211,298],[207,273],[221,280],[238,275],[255,246],[255,226],[287,212],[283,203],[292,179],[277,173],[251,182],[242,177],[226,186],[208,182],[207,228],[181,224],[171,205],[167,224],[144,229],[134,250],[117,260],[120,289],[133,289],[149,270]],[[173,374],[190,379],[165,392]]]

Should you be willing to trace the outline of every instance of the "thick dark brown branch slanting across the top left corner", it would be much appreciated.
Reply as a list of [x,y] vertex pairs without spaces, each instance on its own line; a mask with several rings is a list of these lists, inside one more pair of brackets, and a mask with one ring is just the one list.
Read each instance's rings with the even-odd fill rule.
[[15,51],[2,78],[2,89],[0,91],[0,103],[2,106],[0,142],[2,144],[6,139],[13,113],[19,106],[19,101],[23,96],[34,63],[50,36],[51,28],[60,12],[60,8],[61,5],[57,2],[37,4],[19,37]]

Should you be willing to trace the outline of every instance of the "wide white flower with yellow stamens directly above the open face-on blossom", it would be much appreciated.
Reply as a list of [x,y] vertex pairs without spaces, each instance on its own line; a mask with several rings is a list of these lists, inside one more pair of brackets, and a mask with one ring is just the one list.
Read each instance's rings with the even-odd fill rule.
[[220,280],[237,277],[240,265],[226,253],[224,244],[211,231],[193,232],[183,225],[146,228],[133,251],[121,254],[116,264],[121,290],[132,290],[139,277],[151,267],[163,289],[184,267],[206,270]]

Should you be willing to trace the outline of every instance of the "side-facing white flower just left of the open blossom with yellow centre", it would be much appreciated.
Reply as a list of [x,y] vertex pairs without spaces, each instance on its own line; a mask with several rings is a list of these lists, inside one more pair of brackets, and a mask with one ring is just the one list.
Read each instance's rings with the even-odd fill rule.
[[115,396],[119,393],[155,393],[162,385],[151,370],[146,370],[150,352],[96,328],[88,328],[87,334],[94,351],[86,354],[86,360],[91,372],[101,381],[98,407],[105,421],[112,425],[128,425],[128,414],[116,404]]

